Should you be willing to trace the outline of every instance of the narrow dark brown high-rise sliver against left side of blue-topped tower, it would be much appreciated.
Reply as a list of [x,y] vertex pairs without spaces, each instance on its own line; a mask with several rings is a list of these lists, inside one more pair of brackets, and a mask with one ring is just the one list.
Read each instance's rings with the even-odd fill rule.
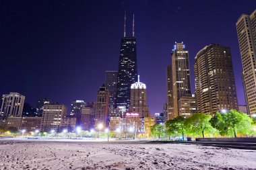
[[167,114],[166,114],[166,120],[171,119],[172,112],[173,112],[173,101],[172,101],[172,65],[168,65],[166,69],[166,75],[167,75]]

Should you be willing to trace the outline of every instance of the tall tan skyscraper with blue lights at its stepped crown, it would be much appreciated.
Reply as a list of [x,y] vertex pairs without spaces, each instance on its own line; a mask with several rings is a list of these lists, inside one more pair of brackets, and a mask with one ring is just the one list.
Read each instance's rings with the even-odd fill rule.
[[179,99],[191,96],[189,51],[186,50],[183,42],[174,44],[171,70],[173,112],[170,118],[172,119],[179,116]]

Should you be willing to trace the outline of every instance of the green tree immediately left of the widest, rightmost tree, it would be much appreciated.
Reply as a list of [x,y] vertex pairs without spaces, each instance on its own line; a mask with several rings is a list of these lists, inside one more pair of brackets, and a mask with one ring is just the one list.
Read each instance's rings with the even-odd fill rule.
[[193,134],[202,134],[205,137],[205,132],[212,132],[213,128],[210,124],[212,116],[207,114],[193,114],[185,120],[185,127]]

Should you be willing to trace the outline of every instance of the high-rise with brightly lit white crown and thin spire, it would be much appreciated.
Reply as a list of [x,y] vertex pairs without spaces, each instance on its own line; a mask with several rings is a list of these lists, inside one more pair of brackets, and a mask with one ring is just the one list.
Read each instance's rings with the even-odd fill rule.
[[149,117],[147,105],[147,91],[146,85],[138,81],[131,85],[131,105],[129,106],[129,112],[135,112],[139,114],[140,118]]

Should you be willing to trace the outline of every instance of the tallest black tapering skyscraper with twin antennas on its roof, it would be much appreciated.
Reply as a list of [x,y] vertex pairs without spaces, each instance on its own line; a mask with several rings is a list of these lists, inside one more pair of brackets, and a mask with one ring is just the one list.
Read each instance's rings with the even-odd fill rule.
[[[126,21],[126,17],[125,17]],[[125,23],[126,24],[126,23]],[[125,28],[125,25],[124,25]],[[131,37],[121,38],[121,48],[119,54],[119,69],[117,75],[117,95],[115,108],[118,105],[125,105],[128,110],[131,99],[131,85],[137,82],[137,52],[136,38],[134,34],[134,15],[133,15],[133,34]]]

